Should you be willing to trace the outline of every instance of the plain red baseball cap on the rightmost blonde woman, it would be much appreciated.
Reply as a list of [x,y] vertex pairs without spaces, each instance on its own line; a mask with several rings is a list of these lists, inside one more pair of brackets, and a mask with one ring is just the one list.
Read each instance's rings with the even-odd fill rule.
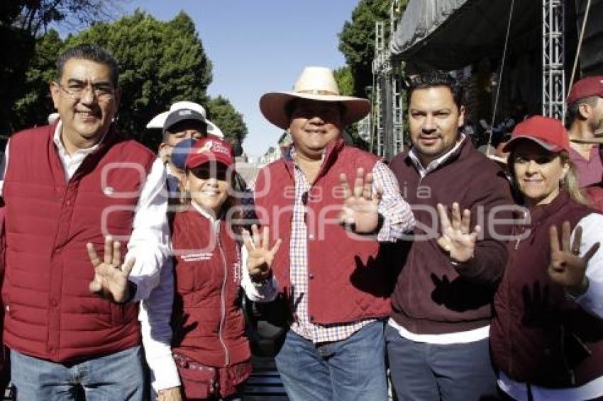
[[570,152],[570,138],[560,120],[534,115],[515,125],[511,140],[504,145],[504,152],[511,152],[518,140],[531,140],[549,152]]

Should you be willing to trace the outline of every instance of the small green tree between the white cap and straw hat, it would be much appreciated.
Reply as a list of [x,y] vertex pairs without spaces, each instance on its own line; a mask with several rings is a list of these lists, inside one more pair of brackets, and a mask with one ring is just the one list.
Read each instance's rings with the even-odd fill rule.
[[224,138],[233,145],[235,156],[243,154],[243,140],[248,134],[243,115],[222,96],[211,98],[207,103],[207,111],[208,118],[218,125]]

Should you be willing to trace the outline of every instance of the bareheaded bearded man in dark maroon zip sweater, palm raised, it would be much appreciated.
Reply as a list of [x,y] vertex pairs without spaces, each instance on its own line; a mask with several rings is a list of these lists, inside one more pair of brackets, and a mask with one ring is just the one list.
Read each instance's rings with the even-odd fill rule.
[[[443,72],[421,74],[408,98],[413,147],[390,166],[417,227],[401,249],[385,329],[392,383],[399,400],[493,397],[489,320],[511,230],[496,223],[511,218],[509,183],[459,132],[465,108],[458,81]],[[453,211],[453,225],[446,224],[445,208]],[[481,232],[469,228],[475,225]]]

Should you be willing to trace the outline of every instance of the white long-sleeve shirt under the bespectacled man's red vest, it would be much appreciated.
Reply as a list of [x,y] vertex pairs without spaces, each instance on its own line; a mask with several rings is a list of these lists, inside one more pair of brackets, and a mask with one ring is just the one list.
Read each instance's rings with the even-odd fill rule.
[[[65,168],[65,179],[71,179],[77,168],[88,154],[99,145],[87,149],[77,149],[72,154],[67,152],[60,138],[62,124],[59,122],[53,141],[57,147],[60,160]],[[104,137],[99,141],[102,142]],[[6,144],[4,158],[0,164],[0,195],[4,186],[4,176],[9,166],[10,140]],[[128,241],[128,252],[125,259],[135,259],[130,273],[130,281],[136,284],[137,290],[133,301],[147,298],[151,290],[159,283],[160,269],[165,263],[169,249],[170,230],[167,225],[167,198],[165,191],[165,171],[162,162],[157,159],[140,191],[135,208],[133,230]]]

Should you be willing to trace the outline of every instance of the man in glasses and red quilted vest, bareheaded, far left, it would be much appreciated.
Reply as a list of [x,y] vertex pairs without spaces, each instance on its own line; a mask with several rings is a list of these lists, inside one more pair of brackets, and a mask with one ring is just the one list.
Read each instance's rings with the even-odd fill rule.
[[60,119],[6,147],[4,343],[20,400],[144,399],[138,301],[167,254],[165,171],[116,132],[117,84],[106,50],[67,50],[50,85]]

